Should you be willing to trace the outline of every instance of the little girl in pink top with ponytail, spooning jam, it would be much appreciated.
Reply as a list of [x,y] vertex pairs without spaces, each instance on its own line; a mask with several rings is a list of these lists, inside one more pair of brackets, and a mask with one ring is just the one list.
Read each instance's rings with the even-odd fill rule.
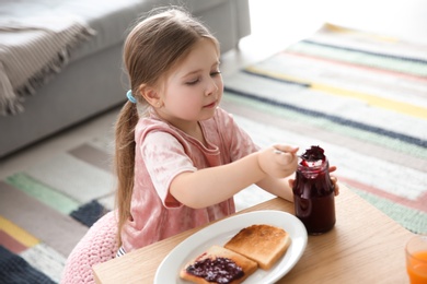
[[259,150],[219,107],[217,39],[184,11],[169,9],[128,35],[131,90],[116,125],[117,256],[235,212],[252,184],[292,200],[297,147]]

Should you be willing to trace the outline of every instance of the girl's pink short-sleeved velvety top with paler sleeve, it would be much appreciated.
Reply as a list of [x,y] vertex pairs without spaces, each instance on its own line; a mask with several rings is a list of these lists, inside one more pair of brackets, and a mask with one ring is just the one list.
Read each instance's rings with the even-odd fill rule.
[[258,150],[221,108],[211,119],[200,121],[200,127],[207,147],[161,120],[154,111],[138,121],[130,205],[134,218],[122,230],[127,252],[235,212],[232,198],[209,208],[192,209],[169,193],[171,181],[183,171],[224,165]]

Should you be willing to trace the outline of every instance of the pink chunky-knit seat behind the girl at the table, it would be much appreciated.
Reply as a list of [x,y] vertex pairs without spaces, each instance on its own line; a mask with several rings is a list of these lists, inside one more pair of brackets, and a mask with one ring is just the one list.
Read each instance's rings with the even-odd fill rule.
[[118,249],[115,213],[111,211],[96,221],[72,249],[60,283],[95,283],[92,267],[113,259]]

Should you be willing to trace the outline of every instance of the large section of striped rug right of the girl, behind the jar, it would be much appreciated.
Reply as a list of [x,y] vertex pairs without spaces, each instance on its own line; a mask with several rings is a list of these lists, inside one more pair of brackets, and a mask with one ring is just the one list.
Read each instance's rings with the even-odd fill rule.
[[342,182],[427,233],[427,46],[325,24],[224,82],[258,144],[322,146]]

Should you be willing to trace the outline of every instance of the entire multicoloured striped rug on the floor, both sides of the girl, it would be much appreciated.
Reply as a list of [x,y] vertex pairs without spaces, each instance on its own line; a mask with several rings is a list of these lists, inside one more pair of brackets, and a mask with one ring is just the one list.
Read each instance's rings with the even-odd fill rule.
[[[222,107],[259,145],[325,149],[339,180],[427,233],[427,46],[325,25],[224,78]],[[114,204],[112,137],[0,181],[0,283],[57,283],[67,256]],[[251,187],[238,210],[272,198]]]

